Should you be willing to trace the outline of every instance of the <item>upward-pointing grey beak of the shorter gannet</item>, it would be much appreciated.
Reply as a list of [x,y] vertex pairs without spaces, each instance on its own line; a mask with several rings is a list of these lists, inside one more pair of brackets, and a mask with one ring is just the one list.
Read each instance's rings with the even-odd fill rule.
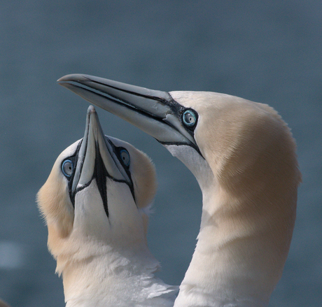
[[69,193],[72,203],[76,193],[90,185],[92,180],[96,178],[104,206],[107,207],[106,176],[127,183],[133,193],[130,173],[120,163],[116,146],[107,136],[104,136],[94,106],[90,106],[87,110],[84,138],[78,145],[73,163],[75,166],[71,166],[73,173],[69,180]]

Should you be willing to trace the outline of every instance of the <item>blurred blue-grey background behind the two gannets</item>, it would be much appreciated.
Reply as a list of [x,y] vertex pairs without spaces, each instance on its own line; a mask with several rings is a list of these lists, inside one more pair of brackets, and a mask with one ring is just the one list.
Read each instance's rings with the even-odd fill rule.
[[[60,87],[87,73],[155,90],[224,92],[269,103],[292,128],[303,174],[283,277],[269,306],[322,306],[322,2],[39,1],[0,3],[0,297],[64,306],[35,196],[83,136],[87,102]],[[149,246],[179,284],[193,255],[201,192],[150,136],[98,110],[106,134],[144,150],[159,189]]]

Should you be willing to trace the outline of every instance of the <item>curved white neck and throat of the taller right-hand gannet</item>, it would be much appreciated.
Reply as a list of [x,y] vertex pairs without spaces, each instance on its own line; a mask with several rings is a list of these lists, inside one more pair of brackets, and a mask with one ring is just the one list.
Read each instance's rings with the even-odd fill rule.
[[167,149],[193,172],[203,195],[197,246],[174,307],[267,306],[288,254],[296,189],[282,204],[284,191],[271,186],[241,180],[230,190],[202,157]]

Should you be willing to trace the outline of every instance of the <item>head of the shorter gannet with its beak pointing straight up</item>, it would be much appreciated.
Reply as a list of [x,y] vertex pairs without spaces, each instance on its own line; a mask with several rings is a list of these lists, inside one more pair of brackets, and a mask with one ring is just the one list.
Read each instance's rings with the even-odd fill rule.
[[59,155],[38,192],[57,271],[111,250],[135,254],[147,248],[155,189],[151,160],[129,143],[104,136],[90,106],[83,139]]

